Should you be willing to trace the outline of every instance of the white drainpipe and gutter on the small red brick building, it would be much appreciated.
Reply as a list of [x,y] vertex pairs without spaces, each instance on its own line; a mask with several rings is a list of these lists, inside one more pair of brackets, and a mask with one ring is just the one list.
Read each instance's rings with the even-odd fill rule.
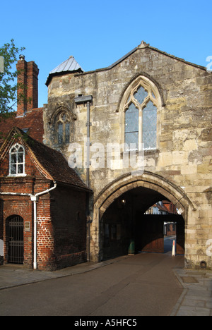
[[25,193],[0,193],[0,195],[11,195],[11,196],[28,196],[30,197],[31,201],[33,202],[33,209],[34,209],[34,261],[33,261],[33,269],[37,269],[37,202],[39,200],[39,196],[45,195],[50,191],[57,188],[57,183],[54,181],[54,187],[44,190],[40,193],[35,195],[32,194],[25,194]]

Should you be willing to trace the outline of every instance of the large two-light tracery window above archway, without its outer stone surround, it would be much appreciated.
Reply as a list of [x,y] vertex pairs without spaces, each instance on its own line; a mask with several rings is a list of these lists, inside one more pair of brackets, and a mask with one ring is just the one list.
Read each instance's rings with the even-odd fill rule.
[[124,102],[124,142],[128,149],[157,148],[158,100],[148,82],[136,80]]

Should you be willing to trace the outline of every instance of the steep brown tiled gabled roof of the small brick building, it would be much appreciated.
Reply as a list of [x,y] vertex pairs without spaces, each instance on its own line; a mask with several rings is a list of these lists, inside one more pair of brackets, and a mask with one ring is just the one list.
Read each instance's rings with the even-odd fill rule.
[[8,134],[4,144],[0,148],[0,164],[4,159],[14,140],[20,140],[21,144],[28,150],[33,163],[37,169],[49,180],[57,183],[71,185],[73,188],[80,188],[91,191],[81,180],[74,169],[69,167],[68,162],[57,150],[47,147],[42,143],[30,138],[20,128],[13,128]]

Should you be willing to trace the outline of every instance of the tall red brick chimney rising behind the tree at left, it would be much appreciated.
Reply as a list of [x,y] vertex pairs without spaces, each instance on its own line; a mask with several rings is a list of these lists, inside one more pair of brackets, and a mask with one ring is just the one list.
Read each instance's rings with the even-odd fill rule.
[[[34,61],[26,62],[25,56],[20,55],[16,64],[18,71],[18,97],[24,99],[18,102],[17,117],[25,116],[26,112],[38,106],[38,73],[39,69]],[[30,99],[30,100],[29,100]]]

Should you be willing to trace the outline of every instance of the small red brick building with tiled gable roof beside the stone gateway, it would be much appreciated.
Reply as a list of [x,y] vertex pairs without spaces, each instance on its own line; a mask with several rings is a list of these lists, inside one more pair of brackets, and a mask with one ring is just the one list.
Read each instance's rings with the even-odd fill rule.
[[0,149],[1,262],[45,270],[86,262],[89,193],[60,152],[13,128]]

